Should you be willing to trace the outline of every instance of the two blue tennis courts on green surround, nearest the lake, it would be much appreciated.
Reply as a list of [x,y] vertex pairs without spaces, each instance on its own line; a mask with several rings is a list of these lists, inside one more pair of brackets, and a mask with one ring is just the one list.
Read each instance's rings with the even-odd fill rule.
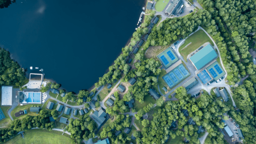
[[165,66],[165,68],[171,66],[178,60],[178,57],[173,53],[170,47],[167,48],[164,52],[158,54],[157,57]]

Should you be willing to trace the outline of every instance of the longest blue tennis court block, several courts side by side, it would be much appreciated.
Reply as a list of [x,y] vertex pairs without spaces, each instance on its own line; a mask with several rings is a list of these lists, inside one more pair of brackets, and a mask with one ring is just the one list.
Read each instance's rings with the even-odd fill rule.
[[168,85],[168,87],[172,88],[181,81],[183,81],[185,78],[187,78],[189,75],[190,74],[184,67],[184,65],[180,64],[169,73],[167,73],[165,76],[163,76],[163,79],[165,80],[165,83]]

